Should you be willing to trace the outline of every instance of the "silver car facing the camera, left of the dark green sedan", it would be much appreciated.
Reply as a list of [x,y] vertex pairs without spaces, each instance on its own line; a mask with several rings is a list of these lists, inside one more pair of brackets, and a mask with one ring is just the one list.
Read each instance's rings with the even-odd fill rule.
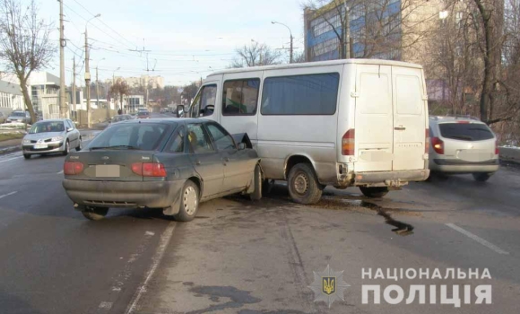
[[22,140],[23,157],[33,154],[68,154],[71,148],[82,149],[82,135],[69,119],[48,119],[38,121]]

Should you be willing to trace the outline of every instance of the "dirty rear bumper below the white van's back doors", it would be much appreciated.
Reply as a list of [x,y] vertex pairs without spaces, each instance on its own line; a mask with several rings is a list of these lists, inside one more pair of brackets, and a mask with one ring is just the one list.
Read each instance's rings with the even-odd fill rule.
[[400,187],[410,181],[424,181],[428,177],[428,169],[356,172],[354,186]]

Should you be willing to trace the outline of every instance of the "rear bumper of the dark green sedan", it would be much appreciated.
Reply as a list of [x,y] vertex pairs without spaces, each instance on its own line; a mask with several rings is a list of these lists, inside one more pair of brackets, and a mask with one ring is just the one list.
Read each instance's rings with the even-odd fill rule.
[[183,186],[184,180],[128,182],[64,179],[63,181],[67,196],[75,204],[113,208],[167,208],[178,204]]

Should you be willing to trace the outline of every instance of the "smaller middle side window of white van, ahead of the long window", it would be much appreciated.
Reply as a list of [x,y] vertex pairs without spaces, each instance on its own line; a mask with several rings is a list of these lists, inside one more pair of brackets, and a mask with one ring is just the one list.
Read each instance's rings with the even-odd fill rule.
[[222,95],[223,116],[254,116],[260,79],[226,81]]

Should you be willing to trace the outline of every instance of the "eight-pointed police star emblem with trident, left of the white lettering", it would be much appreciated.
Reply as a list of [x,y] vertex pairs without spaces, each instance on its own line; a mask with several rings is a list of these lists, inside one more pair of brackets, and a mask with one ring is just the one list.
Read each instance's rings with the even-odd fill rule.
[[343,281],[343,271],[334,272],[334,269],[327,265],[323,272],[313,273],[314,283],[308,287],[315,294],[315,302],[324,301],[330,308],[334,301],[345,301],[343,292],[351,285]]

